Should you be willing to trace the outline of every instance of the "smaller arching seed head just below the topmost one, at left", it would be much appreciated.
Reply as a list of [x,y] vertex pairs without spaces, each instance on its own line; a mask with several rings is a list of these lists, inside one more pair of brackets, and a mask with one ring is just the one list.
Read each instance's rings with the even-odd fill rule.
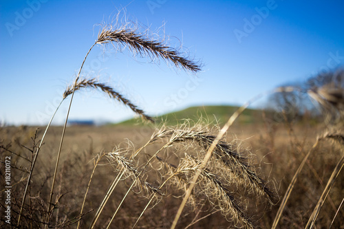
[[[103,91],[105,94],[107,94],[110,98],[114,98],[120,102],[122,102],[124,105],[127,105],[130,107],[130,109],[137,113],[139,116],[144,118],[144,120],[149,120],[151,122],[154,122],[153,118],[150,116],[147,116],[142,109],[138,109],[136,105],[133,105],[130,100],[119,94],[117,91],[115,91],[112,87],[109,87],[105,85],[104,83],[98,83],[96,78],[91,79],[82,79],[78,80],[78,82],[75,85],[75,91],[83,88],[91,87],[94,89],[100,89],[100,91]],[[65,89],[65,92],[63,93],[63,99],[67,98],[67,96],[71,95],[73,93],[74,85],[69,85],[67,89]]]

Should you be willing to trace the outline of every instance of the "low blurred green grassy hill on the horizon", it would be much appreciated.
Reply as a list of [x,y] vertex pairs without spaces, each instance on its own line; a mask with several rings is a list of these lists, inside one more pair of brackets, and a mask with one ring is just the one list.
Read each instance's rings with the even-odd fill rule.
[[[177,124],[182,122],[183,119],[191,119],[195,122],[202,118],[206,118],[210,122],[213,122],[215,119],[219,123],[224,123],[237,111],[239,107],[235,106],[197,106],[189,107],[181,111],[175,111],[171,113],[166,113],[162,116],[155,118],[156,122],[162,122],[166,120],[168,124]],[[261,110],[257,109],[246,109],[241,116],[239,116],[237,123],[252,123],[252,122],[261,122]],[[139,119],[130,119],[119,124],[138,124],[140,123]]]

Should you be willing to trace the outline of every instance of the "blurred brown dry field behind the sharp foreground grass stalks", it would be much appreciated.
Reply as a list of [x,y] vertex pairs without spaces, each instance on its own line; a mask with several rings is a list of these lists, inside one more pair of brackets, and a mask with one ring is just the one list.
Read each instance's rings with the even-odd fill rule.
[[[43,129],[38,129],[35,144],[41,138]],[[123,148],[128,147],[128,142],[131,142],[135,149],[139,149],[140,146],[149,141],[154,129],[155,127],[152,127],[152,125],[67,127],[65,142],[61,151],[60,167],[56,177],[56,197],[54,198],[58,198],[58,200],[54,199],[56,206],[54,206],[55,210],[50,219],[50,226],[76,228],[83,199],[89,185],[83,215],[80,219],[80,228],[89,227],[109,185],[119,173],[116,165],[114,163],[111,163],[111,165],[107,157],[102,157],[93,173],[96,158],[103,155],[103,153],[114,152],[114,149],[118,149],[119,145]],[[247,204],[245,211],[249,215],[250,221],[254,222],[254,227],[271,228],[272,221],[275,219],[281,204],[281,199],[286,193],[294,173],[301,164],[303,157],[312,148],[316,137],[323,134],[322,129],[323,127],[320,124],[312,127],[308,124],[295,124],[290,127],[285,123],[270,125],[236,124],[230,128],[226,135],[228,141],[242,140],[240,148],[252,152],[252,164],[257,167],[257,173],[270,181],[268,185],[272,189],[276,188],[277,190],[277,199],[272,205],[263,197],[257,197],[252,193],[246,194],[245,199],[240,197],[240,204]],[[43,228],[44,226],[44,211],[50,195],[53,168],[62,130],[62,127],[52,127],[47,138],[45,138],[45,144],[41,148],[41,157],[38,159],[32,176],[29,193],[30,203],[28,201],[26,208],[23,210],[25,215],[22,221],[23,224],[21,224],[23,228],[27,226]],[[1,147],[3,147],[1,149],[1,159],[3,160],[3,157],[10,155],[13,166],[11,169],[11,221],[14,224],[17,223],[17,214],[23,198],[25,181],[30,171],[30,162],[21,157],[32,160],[30,149],[34,144],[35,133],[36,127],[3,127],[0,130]],[[144,153],[149,155],[150,150],[156,151],[156,147],[159,146],[153,146]],[[170,149],[162,152],[159,157],[168,158],[171,164],[172,162],[176,163],[174,157],[182,157],[184,149],[184,146],[181,149],[178,147]],[[180,155],[173,155],[173,150]],[[13,155],[10,151],[17,155]],[[192,149],[186,149],[186,151],[192,151]],[[337,147],[333,142],[328,140],[319,142],[295,183],[277,228],[305,228],[312,210],[316,206],[341,155],[343,155],[341,148]],[[149,173],[146,180],[158,186],[161,177],[157,172],[158,170],[153,171],[153,168],[157,168],[156,166],[159,165],[152,163],[151,168],[146,170]],[[3,164],[1,164],[1,173],[4,171],[3,168]],[[89,183],[92,173],[94,176]],[[96,228],[106,228],[109,223],[119,202],[131,185],[132,179],[130,175],[127,176],[126,178],[122,177],[114,193],[109,198],[100,219],[96,223]],[[3,176],[1,177],[2,182]],[[339,174],[316,219],[316,228],[328,228],[332,223],[338,206],[343,201],[343,184],[343,174]],[[231,191],[242,192],[243,190],[236,187],[236,189],[232,188]],[[147,196],[144,191],[137,187],[129,192],[129,196],[123,201],[110,228],[131,228],[133,226],[149,202],[149,195]],[[140,221],[136,225],[137,228],[169,228],[171,226],[182,201],[183,193],[173,183],[169,184],[168,188],[162,189],[162,192],[164,193],[162,196],[151,201],[147,210],[140,217]],[[204,195],[203,193],[202,197],[200,197],[200,204],[193,205],[191,203],[186,205],[178,222],[178,228],[231,228],[234,225],[233,223],[240,223],[240,220],[239,222],[231,221],[232,216],[224,217],[224,212],[219,210],[219,206],[211,204],[209,199],[204,198]],[[3,202],[1,204],[1,207],[3,207]],[[343,215],[343,208],[341,208],[337,212],[332,228],[343,228]],[[197,221],[198,219],[200,221]],[[4,224],[5,222],[1,219],[1,225]],[[69,224],[71,225],[68,226]]]

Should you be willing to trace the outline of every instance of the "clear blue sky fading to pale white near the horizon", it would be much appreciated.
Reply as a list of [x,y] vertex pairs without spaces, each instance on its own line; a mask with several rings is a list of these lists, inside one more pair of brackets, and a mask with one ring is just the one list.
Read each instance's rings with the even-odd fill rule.
[[[343,1],[1,1],[0,122],[46,124],[72,83],[98,23],[125,8],[171,45],[202,61],[194,76],[128,50],[104,56],[95,47],[84,76],[99,76],[155,116],[192,105],[241,105],[283,83],[344,63]],[[162,27],[162,25],[164,25]],[[116,122],[127,107],[86,90],[70,118]],[[65,118],[68,101],[56,116]]]

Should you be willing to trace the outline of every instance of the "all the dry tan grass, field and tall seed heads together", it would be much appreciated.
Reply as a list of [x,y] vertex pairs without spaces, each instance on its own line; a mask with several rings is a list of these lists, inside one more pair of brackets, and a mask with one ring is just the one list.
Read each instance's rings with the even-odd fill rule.
[[[80,77],[93,47],[109,43],[118,50],[129,47],[133,54],[152,61],[171,61],[190,72],[201,69],[164,41],[152,39],[147,31],[129,24],[105,25],[74,83],[62,95],[61,103],[70,96],[69,109],[75,91],[92,87],[152,120],[116,89]],[[63,127],[50,126],[54,115],[45,131],[1,127],[1,155],[12,158],[10,226],[343,228],[344,182],[338,182],[343,181],[344,164],[343,91],[330,86],[309,91],[329,116],[339,114],[335,129],[295,125],[286,116],[284,123],[266,120],[265,125],[247,129],[235,126],[252,101],[233,113],[222,128],[204,120],[186,120],[175,127],[67,128],[69,109]],[[142,128],[147,129],[142,132]],[[231,137],[228,129],[244,133],[241,139],[252,137],[252,147]],[[132,139],[123,144],[128,136]],[[3,171],[1,183],[5,184]],[[279,206],[275,205],[282,196]],[[5,225],[2,218],[0,226]]]

